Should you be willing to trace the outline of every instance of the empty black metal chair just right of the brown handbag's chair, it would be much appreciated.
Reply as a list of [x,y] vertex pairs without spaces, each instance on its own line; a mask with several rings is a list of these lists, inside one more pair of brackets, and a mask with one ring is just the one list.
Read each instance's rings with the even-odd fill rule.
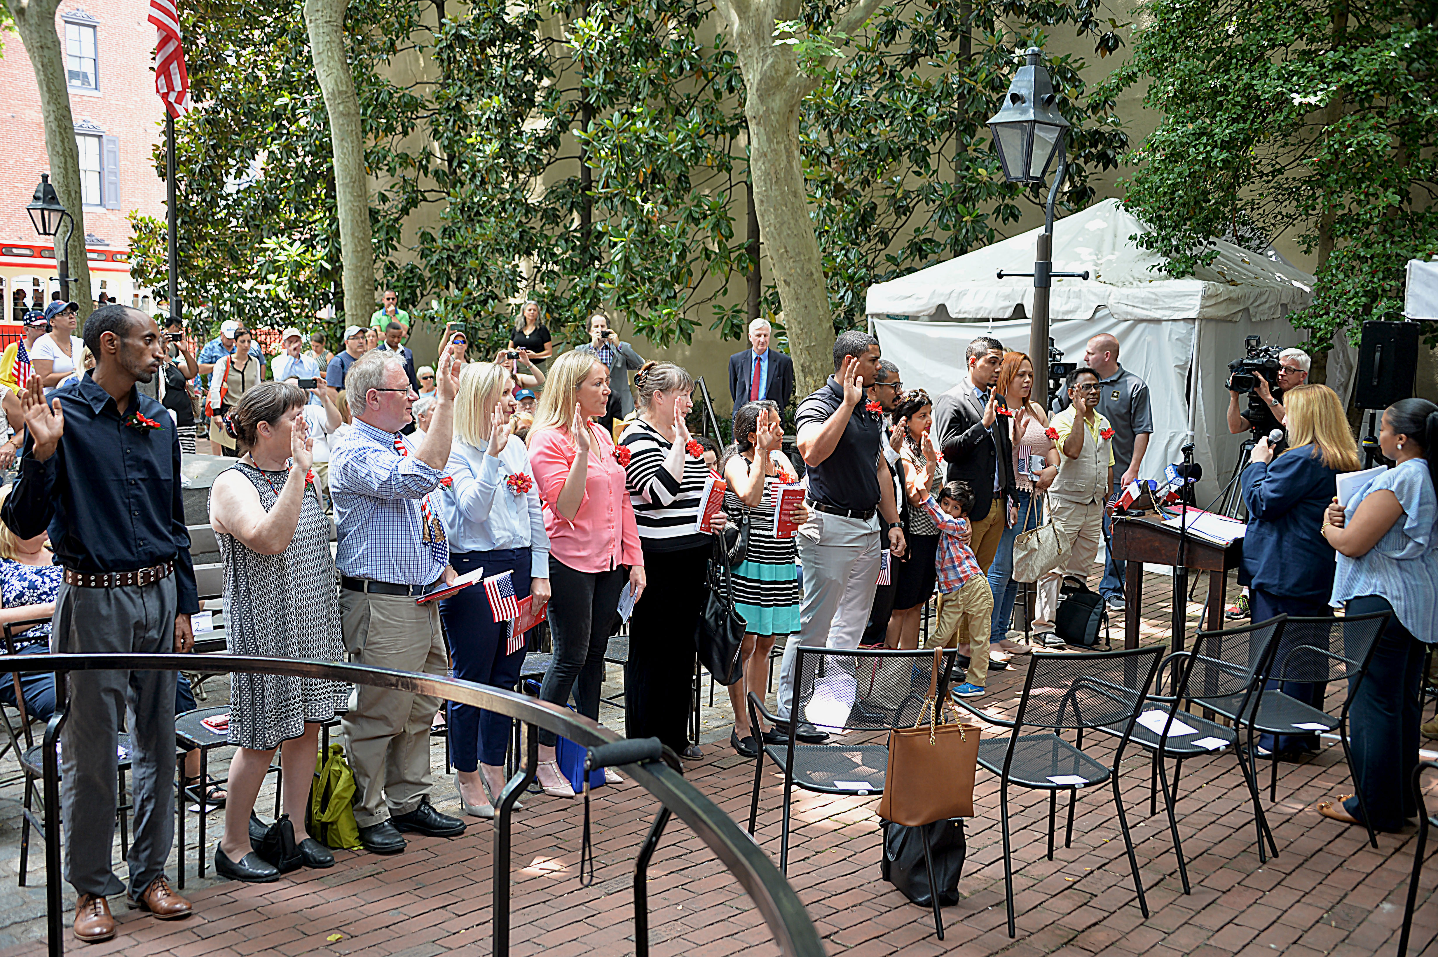
[[[968,698],[955,703],[991,724],[1014,729],[1004,737],[979,741],[979,767],[999,776],[999,825],[1004,832],[1004,891],[1008,904],[1008,935],[1017,937],[1014,924],[1014,858],[1009,839],[1009,785],[1048,792],[1048,859],[1054,859],[1054,816],[1058,792],[1068,792],[1068,823],[1064,846],[1073,845],[1074,805],[1080,787],[1109,782],[1113,785],[1113,806],[1119,813],[1119,831],[1129,852],[1133,887],[1139,895],[1139,910],[1149,915],[1143,897],[1143,878],[1133,855],[1133,838],[1123,813],[1119,792],[1119,764],[1127,749],[1153,675],[1158,672],[1162,648],[1130,648],[1091,654],[1047,654],[1035,651],[1030,660],[1024,690],[1018,698],[1014,720],[988,714]],[[1122,726],[1113,763],[1091,757],[1083,750],[1083,733]],[[1031,729],[1025,734],[1025,729]],[[1070,744],[1061,731],[1077,731],[1077,744]]]

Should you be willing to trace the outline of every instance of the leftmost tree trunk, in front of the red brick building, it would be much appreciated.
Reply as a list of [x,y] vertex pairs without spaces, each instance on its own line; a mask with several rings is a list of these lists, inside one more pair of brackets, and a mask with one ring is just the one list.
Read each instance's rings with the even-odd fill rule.
[[[50,161],[50,182],[60,204],[73,217],[66,250],[55,249],[59,260],[69,260],[70,299],[79,303],[81,326],[91,313],[89,260],[85,259],[85,204],[81,193],[81,154],[75,145],[75,118],[70,114],[70,85],[55,24],[59,0],[6,0],[14,17],[20,43],[35,66],[35,85],[40,92],[40,116],[45,121],[45,152]],[[65,227],[60,227],[62,233]],[[60,236],[56,234],[56,241]]]

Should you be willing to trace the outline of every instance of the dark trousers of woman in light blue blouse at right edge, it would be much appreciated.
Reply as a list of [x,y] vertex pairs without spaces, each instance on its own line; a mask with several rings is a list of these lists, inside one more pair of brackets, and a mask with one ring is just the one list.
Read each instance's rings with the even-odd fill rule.
[[[1392,611],[1380,595],[1347,602],[1349,615]],[[1414,769],[1418,767],[1418,726],[1422,723],[1424,654],[1426,648],[1398,618],[1378,637],[1363,684],[1349,707],[1349,736],[1353,749],[1353,783],[1363,790],[1373,831],[1399,831],[1421,810],[1414,800]],[[1357,820],[1363,809],[1357,798],[1343,802]]]

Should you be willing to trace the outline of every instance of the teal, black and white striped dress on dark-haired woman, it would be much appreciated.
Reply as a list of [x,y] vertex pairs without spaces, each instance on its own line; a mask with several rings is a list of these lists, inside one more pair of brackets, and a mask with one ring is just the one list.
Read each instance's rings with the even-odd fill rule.
[[[764,499],[755,507],[739,501],[733,491],[723,496],[723,510],[731,520],[749,514],[749,552],[733,569],[733,599],[752,635],[792,635],[800,629],[800,582],[794,565],[795,539],[774,537],[774,504],[778,489],[798,476],[782,453],[772,453],[779,476],[764,480]],[[742,456],[739,461],[752,468]]]

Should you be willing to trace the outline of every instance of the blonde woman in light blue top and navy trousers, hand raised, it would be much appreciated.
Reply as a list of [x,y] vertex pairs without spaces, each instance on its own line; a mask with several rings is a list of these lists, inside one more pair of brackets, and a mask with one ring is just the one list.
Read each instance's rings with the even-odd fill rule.
[[[450,566],[460,575],[483,568],[485,578],[510,572],[515,599],[529,596],[538,609],[549,601],[549,536],[529,457],[509,434],[513,411],[515,379],[508,369],[492,362],[464,366],[454,398],[454,447],[444,470],[450,483],[434,499]],[[523,639],[509,639],[510,624],[495,621],[485,589],[470,586],[440,601],[440,618],[454,677],[513,691],[525,662]],[[502,714],[450,703],[450,756],[466,815],[495,816],[510,729]]]

